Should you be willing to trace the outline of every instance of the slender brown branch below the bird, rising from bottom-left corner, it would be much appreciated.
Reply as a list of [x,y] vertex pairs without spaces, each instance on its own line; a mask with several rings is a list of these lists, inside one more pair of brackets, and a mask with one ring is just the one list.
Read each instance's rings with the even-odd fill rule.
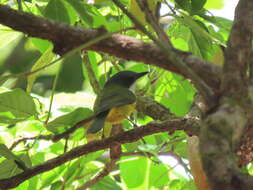
[[164,121],[160,123],[149,123],[146,126],[129,130],[110,138],[106,138],[100,141],[93,141],[88,144],[76,147],[70,150],[69,152],[66,152],[56,158],[48,160],[47,162],[43,164],[34,166],[16,176],[13,176],[8,179],[1,179],[0,189],[5,190],[8,188],[16,187],[20,183],[24,182],[25,180],[35,175],[52,170],[53,168],[56,168],[80,156],[83,156],[92,152],[96,152],[98,150],[110,148],[115,143],[119,143],[119,144],[131,143],[147,135],[160,133],[160,132],[168,132],[168,131],[174,132],[176,130],[185,130],[189,134],[194,134],[196,133],[196,131],[198,131],[198,129],[199,129],[199,126],[197,125],[196,121],[190,120],[190,119],[188,120],[178,119],[178,120],[172,120],[172,121]]

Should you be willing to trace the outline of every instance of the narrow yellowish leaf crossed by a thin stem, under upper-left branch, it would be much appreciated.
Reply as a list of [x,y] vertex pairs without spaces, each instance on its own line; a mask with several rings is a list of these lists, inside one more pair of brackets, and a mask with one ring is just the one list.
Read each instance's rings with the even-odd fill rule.
[[[35,62],[35,64],[33,65],[31,72],[32,71],[36,71],[37,69],[48,65],[52,59],[54,58],[55,54],[52,52],[53,50],[53,46],[50,46],[42,55],[41,57]],[[41,70],[42,71],[42,70]],[[34,74],[31,74],[27,77],[27,88],[26,91],[28,93],[31,92],[32,90],[32,86],[34,81],[36,80],[37,76],[41,73],[41,71],[36,72]]]

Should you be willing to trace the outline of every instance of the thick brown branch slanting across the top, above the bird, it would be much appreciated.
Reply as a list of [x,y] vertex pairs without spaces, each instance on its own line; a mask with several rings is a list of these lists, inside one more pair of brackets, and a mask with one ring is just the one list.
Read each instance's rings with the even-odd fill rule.
[[[13,10],[5,5],[0,5],[0,23],[14,30],[26,33],[29,36],[53,42],[54,52],[60,55],[96,38],[104,32],[101,29],[71,27],[65,23],[54,22],[32,14]],[[107,40],[103,40],[88,49],[109,53],[127,60],[155,65],[182,74],[186,78],[190,77],[184,70],[176,68],[156,45],[144,43],[129,36],[114,34]],[[178,56],[183,58],[184,63],[188,67],[196,72],[215,92],[218,92],[221,76],[220,67],[191,56],[189,53],[179,50],[175,51]]]

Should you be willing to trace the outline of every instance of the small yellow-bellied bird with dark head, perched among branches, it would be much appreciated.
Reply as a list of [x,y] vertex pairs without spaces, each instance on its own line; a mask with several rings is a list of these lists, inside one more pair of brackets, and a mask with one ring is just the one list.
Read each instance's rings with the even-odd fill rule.
[[87,133],[99,132],[105,125],[121,123],[135,108],[136,97],[129,90],[134,82],[148,72],[136,73],[121,71],[112,76],[105,83],[100,95],[94,104],[95,118],[90,124]]

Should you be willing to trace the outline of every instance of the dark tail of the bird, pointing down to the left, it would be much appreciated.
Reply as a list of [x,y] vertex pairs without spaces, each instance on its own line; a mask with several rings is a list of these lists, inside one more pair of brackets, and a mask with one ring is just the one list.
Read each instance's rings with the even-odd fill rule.
[[87,130],[87,133],[97,133],[98,131],[100,131],[104,127],[106,116],[108,115],[108,113],[109,111],[99,113],[91,123],[89,129]]

